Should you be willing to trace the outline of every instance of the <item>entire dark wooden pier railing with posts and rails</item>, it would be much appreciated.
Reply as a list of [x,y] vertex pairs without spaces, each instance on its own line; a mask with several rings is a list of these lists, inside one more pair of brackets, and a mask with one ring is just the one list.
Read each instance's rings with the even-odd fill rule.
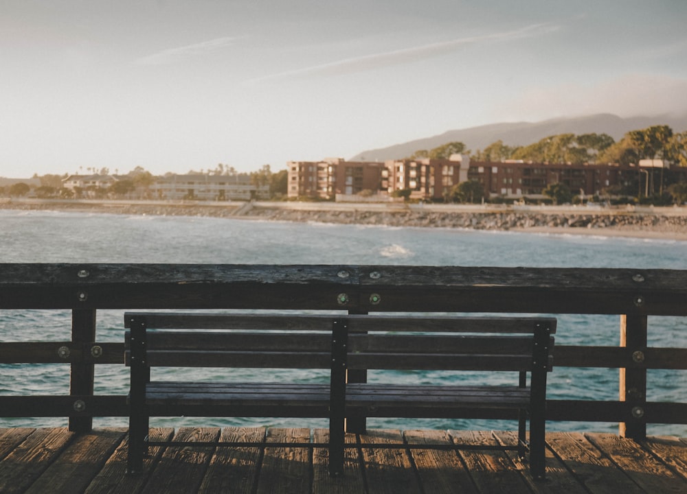
[[98,342],[98,309],[618,314],[620,346],[556,344],[554,357],[554,374],[620,369],[618,400],[549,399],[547,419],[618,422],[632,438],[644,437],[647,423],[687,423],[687,403],[646,399],[648,369],[687,369],[686,348],[647,347],[648,316],[687,316],[687,270],[0,264],[0,309],[71,309],[62,342],[0,343],[0,364],[69,363],[70,394],[3,395],[0,416],[69,416],[77,431],[94,416],[128,414],[126,397],[93,394],[94,366],[123,365],[124,353],[123,337]]

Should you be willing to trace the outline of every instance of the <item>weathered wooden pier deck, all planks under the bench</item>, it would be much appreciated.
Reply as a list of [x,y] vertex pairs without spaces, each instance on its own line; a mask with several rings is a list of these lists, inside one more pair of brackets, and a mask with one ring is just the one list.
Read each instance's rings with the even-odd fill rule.
[[[151,448],[144,473],[126,473],[126,430],[0,429],[0,492],[11,493],[685,493],[687,439],[635,441],[613,434],[547,434],[547,478],[534,482],[515,432],[371,430],[348,434],[342,478],[326,450],[270,443],[326,440],[326,430],[229,427],[153,430],[156,440],[251,440],[263,447]],[[405,443],[467,449],[389,449]]]

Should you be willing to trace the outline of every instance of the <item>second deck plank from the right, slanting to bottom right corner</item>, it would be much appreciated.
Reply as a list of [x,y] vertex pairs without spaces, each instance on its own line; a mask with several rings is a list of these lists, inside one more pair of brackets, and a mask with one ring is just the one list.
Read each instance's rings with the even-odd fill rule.
[[647,493],[684,494],[687,483],[633,440],[615,434],[585,434]]

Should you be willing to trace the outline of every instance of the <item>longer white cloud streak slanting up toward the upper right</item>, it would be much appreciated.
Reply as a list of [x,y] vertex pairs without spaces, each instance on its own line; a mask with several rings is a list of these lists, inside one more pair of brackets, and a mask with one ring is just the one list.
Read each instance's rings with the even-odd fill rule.
[[251,79],[246,82],[256,83],[266,82],[269,80],[292,78],[331,77],[336,75],[365,72],[374,69],[382,69],[384,67],[392,67],[394,65],[409,64],[418,62],[419,60],[441,56],[465,45],[473,45],[475,43],[484,43],[489,41],[532,38],[534,36],[542,36],[543,34],[547,34],[557,29],[558,27],[555,25],[535,24],[514,31],[487,34],[485,36],[458,38],[455,40],[443,41],[441,43],[431,43],[430,45],[423,45],[419,47],[386,51],[380,54],[365,55],[356,58],[345,58],[343,60],[337,60],[336,62],[327,64],[315,65],[313,67],[306,67],[304,69],[296,69],[293,71],[267,75],[262,78]]

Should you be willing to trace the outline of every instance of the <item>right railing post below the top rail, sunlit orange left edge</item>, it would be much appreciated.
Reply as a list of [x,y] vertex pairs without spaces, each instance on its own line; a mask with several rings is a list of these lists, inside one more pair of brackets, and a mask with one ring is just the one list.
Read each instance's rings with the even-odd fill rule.
[[[644,362],[646,322],[646,315],[620,316],[620,346],[629,349],[634,364]],[[618,434],[631,439],[646,438],[646,366],[620,368],[620,401],[627,402],[632,421],[621,422]]]

